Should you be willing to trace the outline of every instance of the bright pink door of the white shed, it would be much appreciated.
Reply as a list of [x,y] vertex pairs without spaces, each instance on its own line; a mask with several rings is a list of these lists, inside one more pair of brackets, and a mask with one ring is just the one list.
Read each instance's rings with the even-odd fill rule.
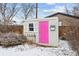
[[39,22],[39,43],[48,44],[48,21]]

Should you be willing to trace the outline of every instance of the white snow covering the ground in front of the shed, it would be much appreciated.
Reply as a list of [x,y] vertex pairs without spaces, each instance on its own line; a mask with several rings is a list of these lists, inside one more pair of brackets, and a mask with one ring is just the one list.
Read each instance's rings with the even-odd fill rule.
[[18,45],[10,48],[0,47],[1,56],[75,56],[67,41],[60,40],[59,47],[40,47],[35,45]]

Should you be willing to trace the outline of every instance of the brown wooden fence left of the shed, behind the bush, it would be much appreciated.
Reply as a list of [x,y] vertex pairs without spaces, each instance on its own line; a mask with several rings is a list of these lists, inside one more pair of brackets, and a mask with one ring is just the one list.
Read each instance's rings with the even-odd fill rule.
[[22,25],[0,25],[0,33],[14,32],[18,34],[23,34]]

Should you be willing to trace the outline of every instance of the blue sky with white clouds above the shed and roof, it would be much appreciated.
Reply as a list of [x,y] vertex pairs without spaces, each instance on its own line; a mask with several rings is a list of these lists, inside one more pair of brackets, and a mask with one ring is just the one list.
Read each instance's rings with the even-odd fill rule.
[[[72,3],[66,4],[67,9],[71,10],[73,7]],[[33,18],[35,18],[36,15],[36,4],[34,4],[34,13]],[[44,18],[48,15],[54,14],[56,12],[65,12],[65,3],[38,3],[38,18]],[[21,15],[19,13],[18,15]],[[14,20],[21,23],[23,19],[21,17],[14,17]]]

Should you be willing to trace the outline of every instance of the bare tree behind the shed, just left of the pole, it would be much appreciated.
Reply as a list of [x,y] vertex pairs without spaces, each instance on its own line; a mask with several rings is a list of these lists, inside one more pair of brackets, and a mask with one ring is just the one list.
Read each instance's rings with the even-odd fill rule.
[[34,4],[21,4],[22,6],[22,13],[23,13],[23,18],[26,20],[29,16],[32,16],[33,14],[33,8],[34,8]]

